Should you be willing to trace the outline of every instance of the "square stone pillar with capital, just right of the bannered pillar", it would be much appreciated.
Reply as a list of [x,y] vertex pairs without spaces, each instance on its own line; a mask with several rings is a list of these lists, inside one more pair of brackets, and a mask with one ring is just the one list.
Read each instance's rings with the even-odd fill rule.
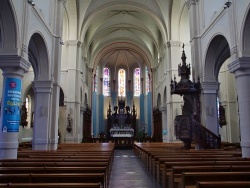
[[33,81],[33,90],[35,92],[35,110],[34,110],[34,127],[33,127],[33,150],[50,149],[50,119],[51,119],[51,93],[53,82]]

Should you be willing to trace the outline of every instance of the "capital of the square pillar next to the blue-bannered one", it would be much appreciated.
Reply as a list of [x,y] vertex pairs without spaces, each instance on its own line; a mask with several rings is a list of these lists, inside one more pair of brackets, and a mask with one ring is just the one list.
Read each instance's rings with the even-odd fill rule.
[[35,93],[52,93],[53,82],[51,80],[35,80],[32,82]]

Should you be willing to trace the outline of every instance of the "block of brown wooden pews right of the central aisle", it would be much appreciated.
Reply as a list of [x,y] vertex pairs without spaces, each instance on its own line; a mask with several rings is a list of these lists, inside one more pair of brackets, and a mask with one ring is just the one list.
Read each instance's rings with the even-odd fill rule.
[[250,187],[250,158],[240,150],[183,150],[180,143],[135,143],[133,150],[163,188]]

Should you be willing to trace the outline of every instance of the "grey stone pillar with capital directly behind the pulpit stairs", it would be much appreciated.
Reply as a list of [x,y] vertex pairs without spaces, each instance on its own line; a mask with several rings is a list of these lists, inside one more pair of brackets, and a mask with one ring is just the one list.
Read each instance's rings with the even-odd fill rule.
[[207,129],[214,134],[219,135],[218,123],[218,108],[217,108],[217,92],[219,89],[219,82],[202,82],[203,91],[203,119]]

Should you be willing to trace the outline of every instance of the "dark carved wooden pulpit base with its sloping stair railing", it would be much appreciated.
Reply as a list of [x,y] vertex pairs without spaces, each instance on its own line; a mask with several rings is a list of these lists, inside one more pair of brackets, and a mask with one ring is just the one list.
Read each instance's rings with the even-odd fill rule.
[[175,134],[186,149],[190,149],[192,142],[204,149],[221,148],[221,138],[202,126],[193,115],[175,117]]

